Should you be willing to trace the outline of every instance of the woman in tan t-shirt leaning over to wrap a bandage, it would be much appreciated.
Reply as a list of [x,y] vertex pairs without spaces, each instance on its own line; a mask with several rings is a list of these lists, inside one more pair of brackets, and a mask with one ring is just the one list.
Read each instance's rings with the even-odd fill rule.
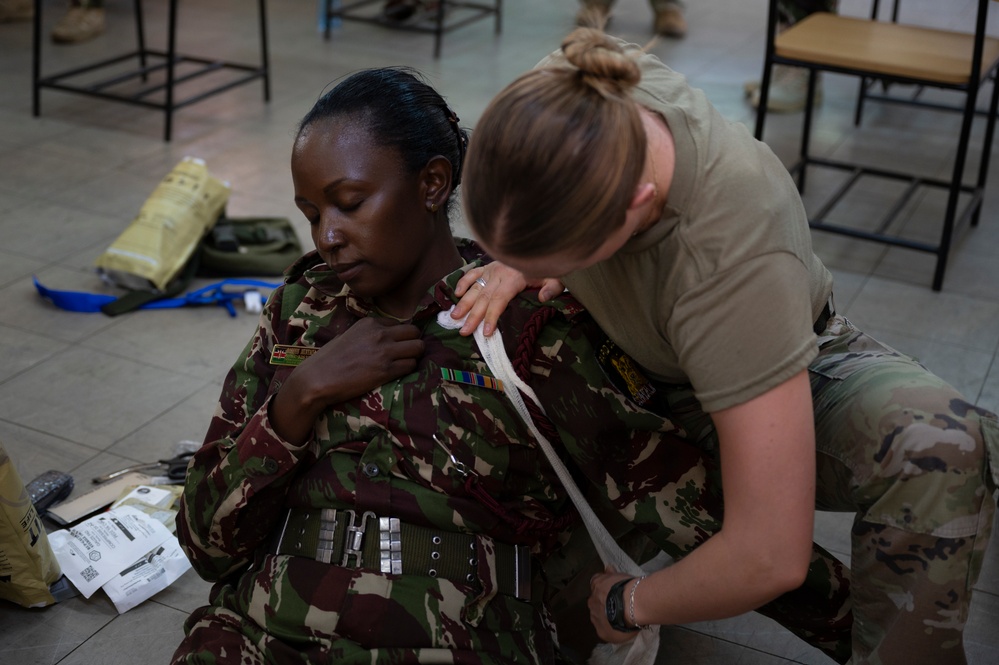
[[498,259],[459,284],[463,331],[484,321],[489,334],[528,284],[542,300],[565,284],[720,461],[717,533],[644,581],[594,576],[601,639],[798,589],[816,572],[818,507],[857,515],[852,636],[827,653],[965,662],[996,418],[835,314],[797,190],[765,145],[654,57],[580,29],[491,102],[463,189]]

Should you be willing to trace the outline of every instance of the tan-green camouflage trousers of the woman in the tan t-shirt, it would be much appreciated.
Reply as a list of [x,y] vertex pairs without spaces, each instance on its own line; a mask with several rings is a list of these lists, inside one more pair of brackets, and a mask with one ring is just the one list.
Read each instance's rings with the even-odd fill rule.
[[[839,662],[965,663],[963,629],[999,484],[996,416],[842,316],[819,338],[809,376],[816,508],[856,514],[850,579],[816,547],[805,585],[760,611]],[[697,445],[714,451],[711,419],[692,392],[674,390],[669,401]]]

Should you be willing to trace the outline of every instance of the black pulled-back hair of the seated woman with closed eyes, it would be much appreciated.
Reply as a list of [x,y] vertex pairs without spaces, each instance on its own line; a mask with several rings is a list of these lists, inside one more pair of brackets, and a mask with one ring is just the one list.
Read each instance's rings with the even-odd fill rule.
[[319,98],[298,134],[316,121],[343,116],[356,117],[378,143],[398,150],[411,173],[442,155],[451,163],[451,190],[461,182],[468,133],[415,70],[385,67],[351,74]]

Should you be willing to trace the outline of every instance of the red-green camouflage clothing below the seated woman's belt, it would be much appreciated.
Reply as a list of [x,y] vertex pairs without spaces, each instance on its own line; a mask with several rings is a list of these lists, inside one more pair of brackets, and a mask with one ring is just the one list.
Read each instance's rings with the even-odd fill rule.
[[185,623],[174,665],[547,665],[550,617],[509,596],[267,555]]

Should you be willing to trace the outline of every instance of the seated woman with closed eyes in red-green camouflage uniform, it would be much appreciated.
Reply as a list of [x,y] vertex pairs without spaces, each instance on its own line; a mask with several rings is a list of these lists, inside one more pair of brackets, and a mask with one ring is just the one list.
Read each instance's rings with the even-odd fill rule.
[[[404,70],[355,74],[302,121],[292,175],[316,251],[269,298],[191,463],[178,534],[218,583],[174,663],[559,658],[531,583],[571,504],[474,340],[449,325],[455,284],[482,263],[448,221],[466,140]],[[608,379],[605,337],[574,301],[525,294],[500,326],[583,464],[650,460],[647,501],[656,482],[706,485],[699,453],[639,406],[648,391]],[[715,524],[709,498],[685,497],[645,511],[676,554]]]

